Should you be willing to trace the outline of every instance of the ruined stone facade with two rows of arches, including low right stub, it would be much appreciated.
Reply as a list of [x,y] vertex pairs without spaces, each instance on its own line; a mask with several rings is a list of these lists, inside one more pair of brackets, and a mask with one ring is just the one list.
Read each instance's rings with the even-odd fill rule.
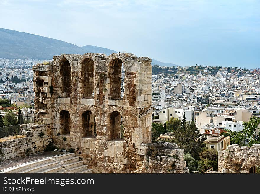
[[36,121],[48,124],[52,142],[73,148],[93,172],[189,172],[183,149],[151,143],[149,57],[64,54],[33,71]]

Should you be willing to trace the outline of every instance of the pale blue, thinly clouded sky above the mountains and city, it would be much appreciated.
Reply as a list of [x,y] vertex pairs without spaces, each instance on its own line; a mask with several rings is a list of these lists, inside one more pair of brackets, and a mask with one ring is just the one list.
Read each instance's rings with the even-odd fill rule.
[[181,66],[260,67],[259,0],[0,0],[0,27]]

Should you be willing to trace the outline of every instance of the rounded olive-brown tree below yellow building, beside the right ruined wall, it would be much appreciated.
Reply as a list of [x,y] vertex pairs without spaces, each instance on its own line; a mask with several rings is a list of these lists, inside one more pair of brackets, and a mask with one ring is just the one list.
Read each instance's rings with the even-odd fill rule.
[[199,153],[198,171],[213,167],[213,171],[217,171],[217,150],[205,149]]

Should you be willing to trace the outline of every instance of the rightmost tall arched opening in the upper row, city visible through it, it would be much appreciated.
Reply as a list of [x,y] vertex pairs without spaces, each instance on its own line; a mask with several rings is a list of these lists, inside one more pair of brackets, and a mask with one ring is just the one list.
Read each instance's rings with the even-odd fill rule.
[[[120,99],[123,89],[121,59],[116,58],[109,63],[110,99]],[[123,67],[124,69],[124,67]]]

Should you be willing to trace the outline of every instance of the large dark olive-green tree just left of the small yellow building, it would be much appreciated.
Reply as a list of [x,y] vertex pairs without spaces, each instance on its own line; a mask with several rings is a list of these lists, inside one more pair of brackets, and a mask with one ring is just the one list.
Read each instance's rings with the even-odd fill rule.
[[[184,129],[183,129],[184,128]],[[194,121],[186,121],[185,126],[179,126],[178,130],[173,132],[173,142],[178,144],[179,148],[189,152],[194,159],[199,159],[199,153],[204,149],[206,136],[202,136],[196,127]]]

